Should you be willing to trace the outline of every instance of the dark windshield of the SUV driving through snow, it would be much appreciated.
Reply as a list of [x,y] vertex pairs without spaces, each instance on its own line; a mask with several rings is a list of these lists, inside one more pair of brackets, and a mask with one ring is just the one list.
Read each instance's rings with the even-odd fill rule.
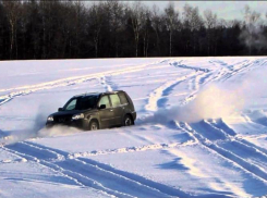
[[96,107],[98,96],[84,96],[78,98],[73,98],[66,102],[63,110],[71,111],[71,110],[86,110],[93,109]]

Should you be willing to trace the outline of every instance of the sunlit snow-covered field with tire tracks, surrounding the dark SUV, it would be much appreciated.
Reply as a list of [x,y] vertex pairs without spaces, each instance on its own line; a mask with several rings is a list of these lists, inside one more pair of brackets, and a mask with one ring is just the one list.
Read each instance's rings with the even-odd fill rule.
[[[120,89],[135,126],[41,128]],[[0,197],[260,197],[266,143],[265,57],[0,62]]]

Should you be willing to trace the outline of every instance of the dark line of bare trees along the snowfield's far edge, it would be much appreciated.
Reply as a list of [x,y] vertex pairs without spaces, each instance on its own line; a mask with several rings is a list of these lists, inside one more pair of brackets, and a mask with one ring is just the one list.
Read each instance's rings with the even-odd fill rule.
[[224,21],[173,2],[0,0],[0,60],[266,55],[267,27],[245,7]]

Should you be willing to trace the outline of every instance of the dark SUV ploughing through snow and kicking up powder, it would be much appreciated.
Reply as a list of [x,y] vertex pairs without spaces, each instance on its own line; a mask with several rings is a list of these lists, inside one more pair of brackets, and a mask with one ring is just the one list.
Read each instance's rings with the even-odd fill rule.
[[72,97],[63,108],[47,117],[47,127],[68,125],[95,131],[134,125],[136,112],[123,90],[90,92]]

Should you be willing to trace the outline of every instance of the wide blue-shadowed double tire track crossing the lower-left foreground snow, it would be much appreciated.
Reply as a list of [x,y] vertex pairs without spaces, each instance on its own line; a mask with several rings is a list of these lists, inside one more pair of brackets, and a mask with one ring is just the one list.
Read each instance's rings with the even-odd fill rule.
[[28,161],[62,173],[77,185],[93,187],[116,197],[193,197],[133,173],[116,170],[94,160],[72,158],[68,152],[37,144],[23,141],[3,148]]

